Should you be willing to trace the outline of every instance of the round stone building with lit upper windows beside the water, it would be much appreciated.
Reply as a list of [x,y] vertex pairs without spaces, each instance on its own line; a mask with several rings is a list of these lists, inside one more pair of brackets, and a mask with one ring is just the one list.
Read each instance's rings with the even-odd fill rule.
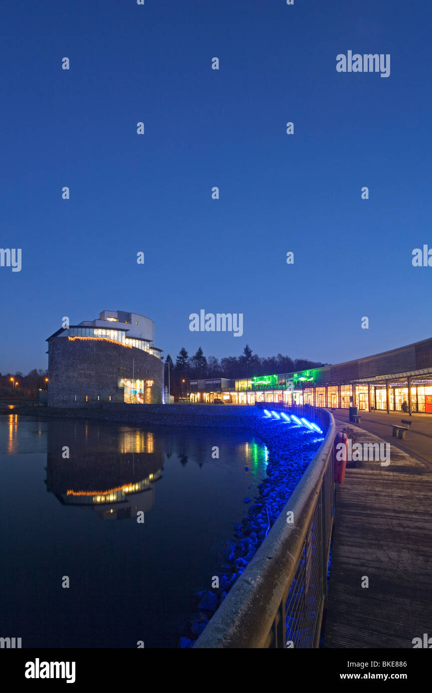
[[164,365],[148,317],[104,310],[98,319],[61,328],[46,341],[49,407],[162,403]]

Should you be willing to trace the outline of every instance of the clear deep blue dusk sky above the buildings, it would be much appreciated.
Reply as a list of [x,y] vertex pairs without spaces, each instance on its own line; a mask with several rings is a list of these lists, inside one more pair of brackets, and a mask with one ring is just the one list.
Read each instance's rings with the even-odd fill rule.
[[[22,249],[1,372],[46,367],[62,316],[104,309],[151,317],[173,358],[337,363],[431,336],[432,267],[411,263],[432,247],[430,3],[3,0],[0,19],[0,247]],[[390,77],[337,73],[349,49],[390,53]],[[243,313],[243,337],[191,333],[200,308]]]

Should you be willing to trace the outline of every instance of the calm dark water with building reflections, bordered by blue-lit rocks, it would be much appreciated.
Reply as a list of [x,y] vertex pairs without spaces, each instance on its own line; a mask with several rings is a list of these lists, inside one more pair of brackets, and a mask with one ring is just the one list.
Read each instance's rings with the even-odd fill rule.
[[266,476],[266,448],[248,432],[6,414],[0,475],[1,637],[177,647]]

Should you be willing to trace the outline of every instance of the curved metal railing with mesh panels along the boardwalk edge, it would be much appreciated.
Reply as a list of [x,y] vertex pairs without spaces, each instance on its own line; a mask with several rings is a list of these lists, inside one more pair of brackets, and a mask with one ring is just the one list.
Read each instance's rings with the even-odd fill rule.
[[319,645],[334,525],[335,423],[330,412],[317,407],[278,408],[317,423],[325,439],[268,536],[193,647]]

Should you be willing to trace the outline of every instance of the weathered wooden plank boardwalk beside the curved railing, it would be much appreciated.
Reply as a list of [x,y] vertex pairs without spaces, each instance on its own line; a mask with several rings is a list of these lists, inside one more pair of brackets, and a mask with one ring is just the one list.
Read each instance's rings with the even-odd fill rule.
[[389,466],[362,465],[336,489],[324,647],[412,648],[432,638],[432,465],[394,446]]

